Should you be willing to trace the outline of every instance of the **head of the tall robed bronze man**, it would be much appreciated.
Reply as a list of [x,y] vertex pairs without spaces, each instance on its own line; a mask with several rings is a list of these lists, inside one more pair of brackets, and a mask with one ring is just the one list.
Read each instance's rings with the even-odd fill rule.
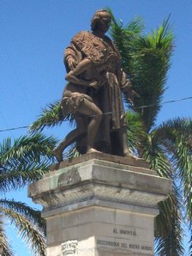
[[106,9],[99,9],[93,15],[93,19],[91,21],[92,31],[97,29],[103,30],[103,32],[107,32],[110,28],[111,24],[111,15]]

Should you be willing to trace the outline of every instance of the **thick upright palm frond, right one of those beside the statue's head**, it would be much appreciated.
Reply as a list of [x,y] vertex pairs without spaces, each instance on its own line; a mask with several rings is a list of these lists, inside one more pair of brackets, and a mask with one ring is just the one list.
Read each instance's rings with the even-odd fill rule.
[[[131,78],[133,88],[141,96],[135,99],[135,111],[142,114],[147,131],[154,125],[161,108],[166,74],[171,65],[172,40],[168,20],[153,34],[135,40]],[[147,105],[153,106],[140,108]]]

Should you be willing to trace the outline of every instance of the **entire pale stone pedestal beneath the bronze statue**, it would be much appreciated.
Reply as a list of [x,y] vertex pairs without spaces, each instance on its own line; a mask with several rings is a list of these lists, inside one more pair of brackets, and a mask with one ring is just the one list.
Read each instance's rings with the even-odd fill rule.
[[96,153],[62,162],[28,186],[44,207],[47,256],[153,255],[153,219],[168,192],[171,181],[145,162]]

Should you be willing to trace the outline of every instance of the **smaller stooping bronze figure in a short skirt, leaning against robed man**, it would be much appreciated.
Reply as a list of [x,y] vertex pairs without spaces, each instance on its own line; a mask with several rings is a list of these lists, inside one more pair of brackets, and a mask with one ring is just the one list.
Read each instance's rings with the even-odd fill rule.
[[[95,73],[95,79],[93,79],[93,73]],[[64,115],[72,113],[78,120],[75,130],[70,131],[63,141],[58,144],[57,148],[53,149],[58,162],[63,161],[63,150],[69,144],[74,143],[77,137],[85,133],[87,133],[87,153],[97,151],[94,149],[93,143],[102,119],[102,112],[93,102],[92,97],[87,94],[88,89],[98,88],[99,83],[96,81],[97,75],[95,70],[93,70],[91,60],[84,58],[80,64],[77,64],[75,70],[70,70],[65,77],[69,83],[63,92],[63,113]],[[83,124],[84,119],[78,118],[79,114],[80,116],[90,118],[87,127]]]

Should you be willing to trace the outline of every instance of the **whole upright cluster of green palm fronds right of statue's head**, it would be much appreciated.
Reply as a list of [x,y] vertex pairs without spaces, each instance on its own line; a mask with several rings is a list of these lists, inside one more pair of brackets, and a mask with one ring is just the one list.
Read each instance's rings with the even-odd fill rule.
[[[141,29],[135,29],[137,25]],[[159,113],[165,92],[173,34],[169,18],[152,34],[141,35],[141,30],[140,20],[133,21],[133,24],[127,27],[113,21],[111,36],[122,54],[123,69],[128,73],[134,90],[141,96],[135,98],[133,108],[141,113],[146,131],[150,131]],[[147,105],[154,106],[141,108]]]

